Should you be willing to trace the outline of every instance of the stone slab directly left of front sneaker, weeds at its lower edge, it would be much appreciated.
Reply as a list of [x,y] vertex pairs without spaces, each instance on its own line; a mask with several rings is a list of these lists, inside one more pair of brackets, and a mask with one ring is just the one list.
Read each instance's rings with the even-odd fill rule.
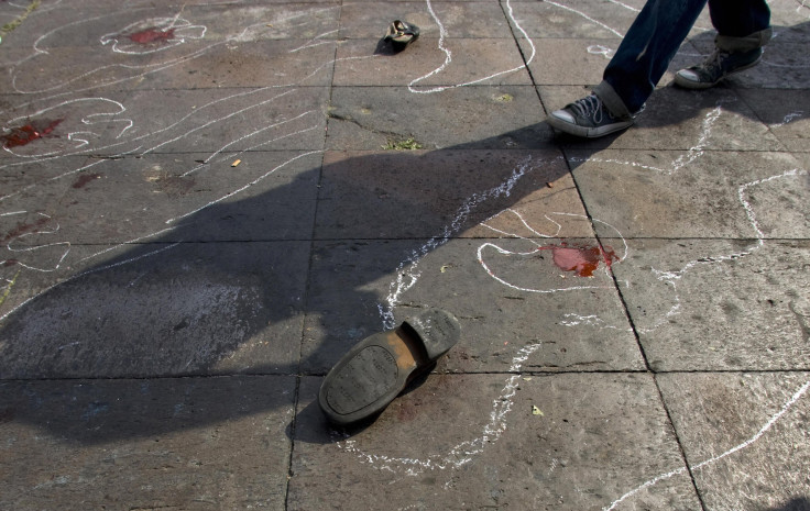
[[[529,86],[463,87],[413,95],[403,87],[336,87],[329,149],[377,151],[413,138],[423,148],[550,148],[551,129]],[[485,121],[482,121],[485,120]]]

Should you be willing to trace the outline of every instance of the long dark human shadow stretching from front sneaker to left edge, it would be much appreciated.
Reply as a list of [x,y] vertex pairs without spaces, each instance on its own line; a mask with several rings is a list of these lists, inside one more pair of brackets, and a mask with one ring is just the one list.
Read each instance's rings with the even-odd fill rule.
[[[325,374],[382,330],[384,297],[369,284],[395,278],[426,240],[440,246],[568,173],[561,158],[545,159],[554,149],[538,130],[305,168],[77,270],[0,324],[0,413],[96,444],[288,406],[296,376]],[[505,138],[534,138],[537,151],[491,151]],[[525,174],[516,178],[516,169]],[[299,216],[314,214],[315,189],[313,242],[311,220]],[[495,191],[470,204],[486,190]],[[234,375],[271,376],[280,387],[266,399],[230,399],[204,391],[228,387],[228,378],[178,378]],[[179,402],[200,411],[175,416],[168,403]]]

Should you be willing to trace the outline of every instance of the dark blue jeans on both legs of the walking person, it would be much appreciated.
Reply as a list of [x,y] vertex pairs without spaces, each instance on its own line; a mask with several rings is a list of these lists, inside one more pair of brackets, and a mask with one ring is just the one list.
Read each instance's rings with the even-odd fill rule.
[[[745,52],[770,38],[765,0],[708,0],[719,49]],[[594,92],[614,115],[638,112],[655,90],[707,0],[648,0]]]

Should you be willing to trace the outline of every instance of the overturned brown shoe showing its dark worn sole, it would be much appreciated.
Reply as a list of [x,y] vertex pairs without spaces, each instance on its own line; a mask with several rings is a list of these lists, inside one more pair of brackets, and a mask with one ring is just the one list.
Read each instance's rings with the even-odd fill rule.
[[318,403],[327,419],[346,426],[382,412],[418,375],[459,340],[458,320],[428,309],[399,327],[361,341],[324,379]]

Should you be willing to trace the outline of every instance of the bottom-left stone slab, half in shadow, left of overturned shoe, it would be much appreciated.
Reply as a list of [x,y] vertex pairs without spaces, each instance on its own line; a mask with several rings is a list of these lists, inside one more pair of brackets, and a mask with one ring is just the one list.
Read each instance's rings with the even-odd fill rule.
[[283,509],[294,377],[0,384],[3,509]]

